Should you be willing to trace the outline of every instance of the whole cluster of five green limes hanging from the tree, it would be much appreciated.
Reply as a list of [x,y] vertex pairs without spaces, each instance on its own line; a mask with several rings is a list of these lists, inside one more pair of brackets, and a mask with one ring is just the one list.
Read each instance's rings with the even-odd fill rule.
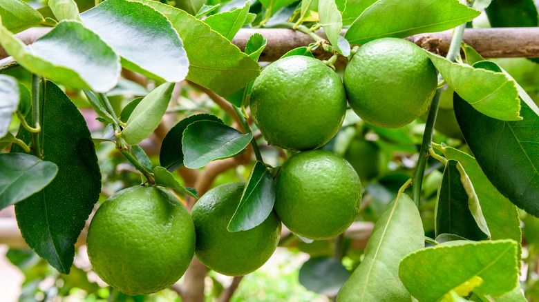
[[245,183],[210,190],[191,215],[166,190],[122,190],[97,210],[88,230],[95,272],[122,292],[149,294],[178,281],[193,254],[216,272],[253,272],[276,249],[281,221],[306,239],[342,234],[359,216],[361,181],[348,161],[316,148],[339,131],[347,99],[367,123],[395,128],[427,110],[436,85],[426,54],[401,39],[379,39],[359,48],[344,83],[312,57],[272,63],[254,82],[253,119],[270,144],[300,151],[278,170],[274,212],[255,228],[229,232]]

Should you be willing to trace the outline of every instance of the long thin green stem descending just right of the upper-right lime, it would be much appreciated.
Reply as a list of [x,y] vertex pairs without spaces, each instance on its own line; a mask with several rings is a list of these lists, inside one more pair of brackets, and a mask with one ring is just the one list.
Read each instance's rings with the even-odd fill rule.
[[[460,44],[462,43],[462,35],[464,34],[464,28],[466,23],[461,26],[457,26],[453,32],[453,39],[451,39],[451,45],[447,52],[446,58],[449,61],[455,61],[460,54]],[[441,78],[438,74],[438,78]],[[436,123],[436,116],[439,108],[439,100],[442,97],[442,90],[444,88],[438,88],[434,94],[433,101],[431,103],[431,110],[428,112],[427,121],[425,124],[425,132],[423,133],[423,142],[421,144],[421,150],[419,151],[419,159],[417,160],[417,166],[413,174],[413,197],[414,203],[419,208],[419,201],[421,201],[421,187],[423,183],[423,177],[425,174],[427,153],[428,150],[433,148],[433,132],[434,125]]]

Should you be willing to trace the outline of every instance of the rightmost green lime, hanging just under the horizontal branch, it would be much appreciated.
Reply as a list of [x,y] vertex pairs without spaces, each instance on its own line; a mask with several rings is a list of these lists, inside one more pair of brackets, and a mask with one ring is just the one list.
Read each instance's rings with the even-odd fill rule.
[[371,125],[398,128],[426,112],[437,87],[436,70],[412,42],[383,38],[361,46],[346,66],[350,107]]

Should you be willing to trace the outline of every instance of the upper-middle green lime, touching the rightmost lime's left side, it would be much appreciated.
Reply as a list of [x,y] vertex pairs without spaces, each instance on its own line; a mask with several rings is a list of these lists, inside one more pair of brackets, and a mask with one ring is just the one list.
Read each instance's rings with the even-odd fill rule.
[[341,128],[346,93],[341,78],[320,60],[291,56],[262,70],[250,106],[270,145],[309,150],[330,141]]

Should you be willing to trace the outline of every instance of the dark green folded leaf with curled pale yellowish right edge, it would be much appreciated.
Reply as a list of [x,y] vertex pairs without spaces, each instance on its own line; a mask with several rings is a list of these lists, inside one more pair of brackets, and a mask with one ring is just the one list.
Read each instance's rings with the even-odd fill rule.
[[446,164],[438,190],[435,232],[436,236],[444,233],[456,234],[475,241],[490,238],[475,190],[462,165],[453,159]]

